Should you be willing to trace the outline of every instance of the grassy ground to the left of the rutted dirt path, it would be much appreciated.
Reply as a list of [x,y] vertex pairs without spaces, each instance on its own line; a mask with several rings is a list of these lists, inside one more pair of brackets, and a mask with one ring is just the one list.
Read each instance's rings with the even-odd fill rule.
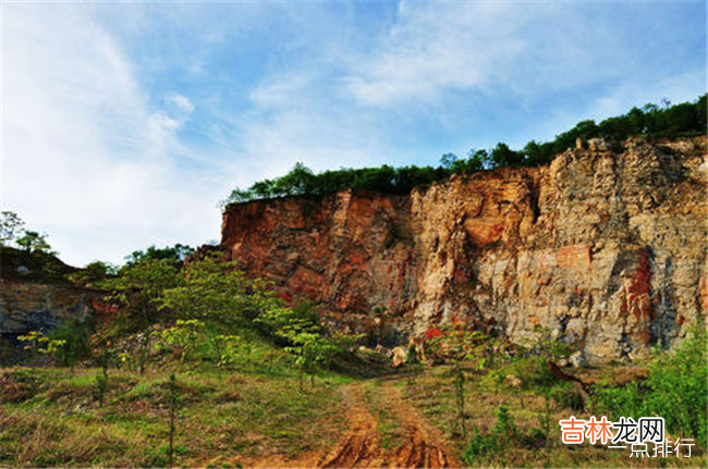
[[[21,397],[0,396],[0,466],[168,464],[168,370],[144,378],[111,370],[102,408],[94,395],[100,370],[77,370],[75,377],[65,371],[0,372],[4,383],[32,379]],[[212,370],[198,369],[178,373],[178,465],[222,459],[234,466],[253,456],[319,449],[341,430],[338,384],[320,381],[300,393],[295,378],[224,373],[219,380]]]

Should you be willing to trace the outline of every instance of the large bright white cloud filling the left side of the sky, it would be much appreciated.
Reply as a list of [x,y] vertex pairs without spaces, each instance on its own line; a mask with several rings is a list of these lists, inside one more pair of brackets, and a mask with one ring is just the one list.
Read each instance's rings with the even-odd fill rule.
[[181,121],[82,7],[3,5],[2,209],[78,264],[218,237],[220,176],[171,162]]

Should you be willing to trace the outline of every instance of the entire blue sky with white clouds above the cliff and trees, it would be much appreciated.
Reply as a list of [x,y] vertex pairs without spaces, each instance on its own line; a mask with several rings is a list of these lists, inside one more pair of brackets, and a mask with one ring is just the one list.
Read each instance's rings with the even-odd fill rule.
[[706,92],[706,3],[2,4],[2,210],[74,264],[302,161],[437,164]]

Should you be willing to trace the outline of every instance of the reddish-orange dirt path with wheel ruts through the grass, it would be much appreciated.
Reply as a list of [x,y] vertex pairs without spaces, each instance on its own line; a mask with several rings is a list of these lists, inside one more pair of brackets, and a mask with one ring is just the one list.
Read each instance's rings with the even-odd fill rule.
[[450,456],[444,435],[426,422],[406,404],[391,382],[384,382],[377,391],[382,393],[383,411],[399,421],[404,432],[404,443],[395,449],[381,446],[378,419],[363,398],[362,383],[343,390],[350,430],[337,448],[318,465],[325,468],[448,468],[457,467]]

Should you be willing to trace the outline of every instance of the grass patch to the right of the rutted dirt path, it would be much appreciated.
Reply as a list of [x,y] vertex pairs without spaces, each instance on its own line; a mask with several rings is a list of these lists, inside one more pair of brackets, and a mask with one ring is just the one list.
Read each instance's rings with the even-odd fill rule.
[[[591,412],[578,411],[570,406],[573,399],[551,398],[547,408],[547,395],[562,396],[567,384],[554,382],[542,372],[533,375],[535,366],[513,363],[506,371],[527,373],[526,381],[513,388],[496,383],[490,375],[469,373],[465,384],[465,421],[472,439],[477,435],[477,449],[484,446],[485,437],[496,437],[499,420],[496,415],[501,407],[508,409],[512,424],[522,435],[516,441],[502,443],[502,448],[492,453],[468,452],[469,440],[460,434],[457,412],[454,404],[454,387],[451,369],[438,367],[428,369],[415,381],[404,381],[402,392],[406,400],[416,407],[432,424],[442,430],[452,443],[460,460],[472,467],[705,467],[705,448],[693,447],[691,458],[630,458],[630,449],[609,449],[606,446],[564,445],[561,443],[559,420],[571,415],[589,418]],[[611,382],[611,377],[627,374],[622,367],[606,367],[587,371],[594,380]],[[491,373],[493,377],[493,373]],[[402,381],[403,382],[403,381]],[[545,384],[539,384],[545,383]],[[599,415],[596,415],[599,418]],[[550,422],[545,429],[545,420]],[[546,431],[544,431],[546,430]],[[539,433],[540,432],[540,433]],[[540,440],[539,440],[540,435]],[[548,440],[544,441],[544,436]],[[675,440],[675,435],[674,435]],[[487,440],[488,441],[488,440]],[[467,457],[465,452],[467,449]],[[471,454],[474,453],[474,454]],[[481,453],[481,454],[480,454]]]

